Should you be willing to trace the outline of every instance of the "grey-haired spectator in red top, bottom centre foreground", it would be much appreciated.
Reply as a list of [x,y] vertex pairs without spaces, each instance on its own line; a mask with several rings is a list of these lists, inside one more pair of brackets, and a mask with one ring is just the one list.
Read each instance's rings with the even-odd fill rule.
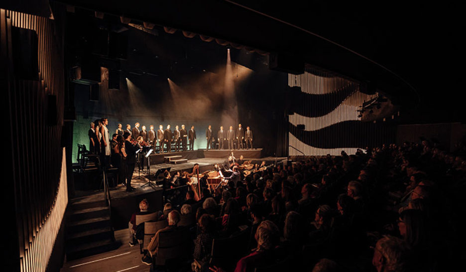
[[256,267],[268,266],[274,262],[273,250],[280,237],[277,226],[272,221],[262,221],[254,237],[257,241],[257,248],[238,261],[234,272],[253,271]]

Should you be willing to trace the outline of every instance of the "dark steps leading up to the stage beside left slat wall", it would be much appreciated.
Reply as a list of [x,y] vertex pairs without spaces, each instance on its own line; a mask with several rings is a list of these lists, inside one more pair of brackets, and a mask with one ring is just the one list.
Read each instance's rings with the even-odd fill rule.
[[66,216],[66,259],[115,250],[114,229],[110,209],[105,201],[69,204]]

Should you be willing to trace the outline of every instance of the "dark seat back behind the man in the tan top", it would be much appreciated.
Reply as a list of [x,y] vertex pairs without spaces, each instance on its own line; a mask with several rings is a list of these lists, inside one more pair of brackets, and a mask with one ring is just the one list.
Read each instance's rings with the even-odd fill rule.
[[180,227],[159,233],[159,245],[155,266],[165,266],[167,262],[180,263],[192,257],[192,241],[189,231]]

